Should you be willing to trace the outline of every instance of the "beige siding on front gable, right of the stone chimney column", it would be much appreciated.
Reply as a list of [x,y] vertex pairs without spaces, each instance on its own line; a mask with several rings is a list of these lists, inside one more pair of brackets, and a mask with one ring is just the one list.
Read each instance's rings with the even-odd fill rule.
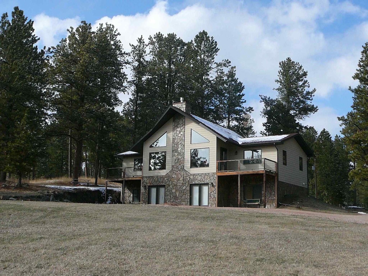
[[[208,143],[191,144],[191,129],[209,140]],[[188,117],[185,118],[185,144],[184,144],[184,169],[190,173],[215,173],[216,172],[216,135],[201,127]],[[209,148],[209,167],[191,168],[190,150]]]

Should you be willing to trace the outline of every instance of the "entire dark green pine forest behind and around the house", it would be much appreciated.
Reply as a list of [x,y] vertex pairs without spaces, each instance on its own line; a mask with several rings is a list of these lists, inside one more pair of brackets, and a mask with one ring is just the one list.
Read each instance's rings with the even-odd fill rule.
[[[193,114],[244,137],[255,135],[253,109],[246,105],[236,67],[217,60],[217,42],[206,31],[189,42],[175,33],[156,33],[147,41],[141,36],[130,52],[113,25],[94,29],[82,21],[67,31],[56,46],[39,49],[33,21],[22,10],[15,7],[11,17],[1,17],[0,181],[13,174],[20,185],[26,177],[84,175],[97,182],[107,167],[120,165],[113,155],[134,144],[180,97],[191,103]],[[362,54],[360,65],[368,64],[365,58]],[[357,95],[367,95],[368,70],[354,75],[362,83],[351,89],[356,107],[340,118],[344,137],[332,140],[328,131],[318,134],[302,125],[318,110],[307,71],[290,58],[279,67],[277,97],[260,95],[266,119],[261,134],[300,132],[315,152],[308,160],[310,194],[316,182],[318,197],[326,202],[367,205],[368,179],[358,171],[365,171],[366,155],[357,154],[365,148],[356,146],[354,135],[367,128],[356,114],[366,104]],[[130,99],[118,112],[120,93]]]

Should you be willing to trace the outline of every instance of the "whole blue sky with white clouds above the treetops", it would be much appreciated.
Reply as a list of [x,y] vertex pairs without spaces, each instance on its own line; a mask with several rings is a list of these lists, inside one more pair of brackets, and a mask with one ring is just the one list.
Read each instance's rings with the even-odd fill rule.
[[[361,46],[368,41],[368,1],[11,1],[0,0],[0,12],[14,6],[35,21],[40,46],[53,46],[66,29],[81,20],[93,25],[109,22],[121,33],[125,50],[143,35],[175,32],[191,40],[205,29],[218,42],[218,60],[229,59],[245,86],[247,105],[255,111],[255,129],[264,119],[259,94],[276,96],[279,61],[291,57],[308,71],[314,104],[319,111],[304,124],[339,134],[337,116],[351,108]],[[120,95],[123,101],[129,95]]]

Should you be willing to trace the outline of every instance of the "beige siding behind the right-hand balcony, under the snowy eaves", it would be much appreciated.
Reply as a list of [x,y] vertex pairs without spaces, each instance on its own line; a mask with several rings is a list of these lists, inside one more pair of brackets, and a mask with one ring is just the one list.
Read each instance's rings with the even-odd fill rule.
[[[262,158],[267,158],[277,162],[275,146],[240,147],[230,143],[225,143],[221,139],[217,138],[217,160],[220,160],[220,148],[227,149],[227,160],[243,159],[244,151],[262,149]],[[235,154],[236,152],[237,154]]]

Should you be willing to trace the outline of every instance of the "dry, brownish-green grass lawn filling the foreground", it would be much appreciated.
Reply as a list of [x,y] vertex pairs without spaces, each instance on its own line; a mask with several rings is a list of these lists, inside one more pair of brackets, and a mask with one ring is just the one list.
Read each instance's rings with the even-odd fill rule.
[[367,236],[317,217],[0,201],[0,275],[367,275]]

